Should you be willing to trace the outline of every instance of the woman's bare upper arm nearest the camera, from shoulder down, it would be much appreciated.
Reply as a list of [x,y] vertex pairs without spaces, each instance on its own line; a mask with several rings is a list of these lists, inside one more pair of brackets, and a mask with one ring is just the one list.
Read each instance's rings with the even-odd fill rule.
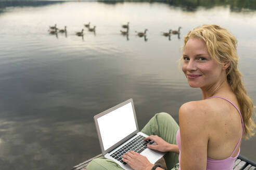
[[179,120],[182,148],[180,167],[182,170],[206,169],[208,119],[199,101],[185,103],[181,106]]

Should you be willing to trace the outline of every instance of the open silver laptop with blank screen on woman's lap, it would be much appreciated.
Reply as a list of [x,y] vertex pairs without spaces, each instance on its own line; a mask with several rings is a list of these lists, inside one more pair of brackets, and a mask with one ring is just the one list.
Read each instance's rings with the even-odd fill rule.
[[118,163],[124,169],[132,169],[122,161],[122,155],[130,150],[138,152],[154,164],[165,153],[147,148],[156,145],[144,141],[148,135],[139,132],[132,98],[94,116],[101,151],[105,158]]

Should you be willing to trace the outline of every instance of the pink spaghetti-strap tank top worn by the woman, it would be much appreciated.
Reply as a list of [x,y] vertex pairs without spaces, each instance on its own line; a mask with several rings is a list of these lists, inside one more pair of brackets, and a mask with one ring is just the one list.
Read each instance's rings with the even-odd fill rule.
[[[240,115],[241,120],[242,120],[241,112],[236,107],[236,105],[234,103],[232,103],[231,101],[227,100],[224,97],[220,97],[220,96],[212,96],[212,97],[219,97],[219,98],[222,98],[225,101],[231,103],[237,109],[237,111],[239,112],[239,115]],[[212,97],[209,97],[209,98],[212,98]],[[238,151],[236,157],[233,158],[232,155],[234,154],[234,152],[236,151],[237,147],[239,146],[239,143],[241,141],[243,132],[244,132],[244,121],[242,120],[241,136],[240,136],[240,139],[239,139],[238,144],[236,145],[234,151],[231,153],[231,155],[228,158],[223,159],[223,160],[214,160],[214,159],[211,159],[211,158],[207,158],[207,166],[206,166],[207,170],[219,170],[219,169],[222,169],[222,170],[232,170],[233,169],[235,160],[236,160],[236,158],[238,157],[238,155],[240,153],[240,148],[239,148],[239,151]],[[180,133],[180,129],[178,129],[177,134],[176,134],[176,142],[177,142],[178,148],[180,149],[180,154],[178,155],[178,162],[180,162],[181,161],[181,133]],[[181,170],[181,167],[179,167],[178,170]]]

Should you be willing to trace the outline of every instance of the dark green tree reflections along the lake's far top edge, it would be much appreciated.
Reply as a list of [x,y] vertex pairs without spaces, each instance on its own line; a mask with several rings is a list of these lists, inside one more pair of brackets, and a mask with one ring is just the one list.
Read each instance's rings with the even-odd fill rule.
[[[75,0],[73,0],[75,1]],[[132,0],[133,1],[133,0]],[[0,12],[4,12],[3,8],[6,7],[40,7],[45,5],[59,4],[64,3],[65,1],[27,1],[27,0],[18,0],[18,1],[1,1],[0,2]],[[255,10],[256,3],[254,0],[231,0],[231,1],[200,1],[200,0],[167,0],[167,1],[134,1],[133,3],[163,3],[168,4],[171,7],[180,7],[184,11],[196,11],[198,7],[204,7],[206,9],[213,8],[215,6],[226,6],[228,5],[231,11],[234,12],[248,12],[248,10]],[[123,4],[125,1],[112,0],[112,1],[98,1],[98,3],[104,3],[109,5]]]

